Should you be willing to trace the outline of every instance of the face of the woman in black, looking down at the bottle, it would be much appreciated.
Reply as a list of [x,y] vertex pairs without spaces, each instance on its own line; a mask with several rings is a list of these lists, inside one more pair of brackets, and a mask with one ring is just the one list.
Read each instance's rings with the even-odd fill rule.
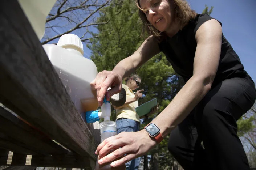
[[172,0],[139,0],[147,20],[158,31],[168,32],[175,20],[174,3]]

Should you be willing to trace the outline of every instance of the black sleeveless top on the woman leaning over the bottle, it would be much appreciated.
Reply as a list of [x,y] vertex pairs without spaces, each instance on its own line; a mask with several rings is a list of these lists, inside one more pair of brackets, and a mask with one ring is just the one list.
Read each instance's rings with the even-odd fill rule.
[[[188,25],[172,38],[167,37],[159,43],[160,51],[166,55],[172,68],[184,78],[185,82],[193,75],[193,63],[197,45],[195,39],[196,31],[204,22],[211,19],[214,18],[207,14],[198,14],[194,20],[189,21]],[[220,23],[220,25],[222,24]],[[241,64],[236,52],[222,34],[219,67],[212,86],[222,80],[233,77],[246,77],[252,80],[244,70],[244,66]]]

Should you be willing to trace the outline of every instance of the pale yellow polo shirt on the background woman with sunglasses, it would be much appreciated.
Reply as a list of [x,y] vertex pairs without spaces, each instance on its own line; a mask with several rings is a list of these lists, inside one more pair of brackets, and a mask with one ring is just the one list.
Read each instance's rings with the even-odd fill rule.
[[[133,90],[131,90],[128,86],[123,84],[122,88],[124,88],[126,91],[126,99],[135,97]],[[135,101],[133,103],[130,103],[129,105],[126,105],[125,107],[116,109],[115,111],[117,113],[117,119],[123,117],[123,118],[132,119],[139,122],[139,115],[136,113],[136,110],[135,110],[135,108],[138,106],[139,106],[138,101]]]

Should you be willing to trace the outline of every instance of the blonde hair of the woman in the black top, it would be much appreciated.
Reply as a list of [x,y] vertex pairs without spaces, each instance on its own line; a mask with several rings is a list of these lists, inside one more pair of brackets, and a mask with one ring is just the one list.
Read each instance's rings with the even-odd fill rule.
[[[145,32],[148,33],[147,37],[149,35],[153,35],[155,37],[160,37],[162,33],[155,29],[153,25],[150,24],[150,22],[147,20],[147,17],[139,4],[139,0],[135,0],[136,5],[139,8],[139,17],[142,20],[143,28],[142,28],[142,34],[145,35]],[[170,0],[169,0],[170,1]],[[188,22],[196,17],[196,12],[190,8],[190,5],[187,3],[186,0],[172,0],[174,1],[174,9],[175,9],[175,18],[179,21],[179,28],[180,30],[183,29],[184,26],[188,24]]]

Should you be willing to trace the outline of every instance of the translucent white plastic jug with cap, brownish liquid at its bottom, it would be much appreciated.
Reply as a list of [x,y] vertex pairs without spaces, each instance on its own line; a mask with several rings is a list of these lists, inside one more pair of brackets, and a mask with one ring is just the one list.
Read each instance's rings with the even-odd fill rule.
[[90,82],[98,73],[92,60],[83,57],[83,44],[74,34],[62,35],[57,43],[43,48],[79,112],[96,110],[98,101]]

